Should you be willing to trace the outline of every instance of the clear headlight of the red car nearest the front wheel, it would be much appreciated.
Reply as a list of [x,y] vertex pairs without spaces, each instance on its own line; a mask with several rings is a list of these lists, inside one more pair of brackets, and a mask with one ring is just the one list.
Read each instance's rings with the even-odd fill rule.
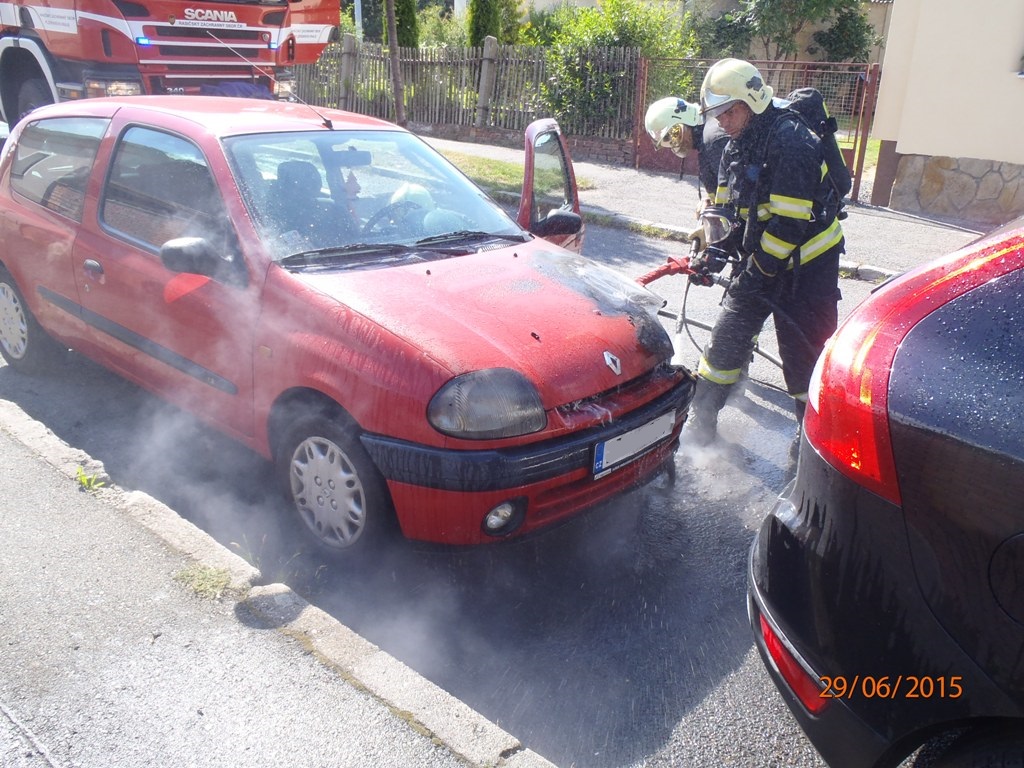
[[508,368],[452,379],[431,398],[427,419],[437,431],[469,440],[529,434],[548,423],[537,388]]

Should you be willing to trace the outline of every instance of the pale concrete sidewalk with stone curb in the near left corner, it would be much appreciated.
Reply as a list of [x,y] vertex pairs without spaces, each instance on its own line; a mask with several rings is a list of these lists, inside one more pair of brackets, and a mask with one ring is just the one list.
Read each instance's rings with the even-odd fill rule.
[[4,400],[0,460],[0,765],[550,768]]

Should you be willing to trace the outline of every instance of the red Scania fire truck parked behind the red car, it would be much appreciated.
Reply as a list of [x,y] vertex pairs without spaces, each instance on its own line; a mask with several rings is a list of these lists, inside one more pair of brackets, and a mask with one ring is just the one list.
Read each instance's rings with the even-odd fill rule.
[[90,96],[288,98],[337,39],[338,0],[0,1],[0,112]]

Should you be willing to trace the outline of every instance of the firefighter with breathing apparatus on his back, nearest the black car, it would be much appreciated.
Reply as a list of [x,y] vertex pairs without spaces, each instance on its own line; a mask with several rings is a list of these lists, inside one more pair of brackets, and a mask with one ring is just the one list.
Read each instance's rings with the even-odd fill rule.
[[722,245],[739,266],[697,367],[687,427],[696,444],[715,439],[718,413],[769,315],[801,423],[815,360],[838,323],[841,201],[817,135],[772,95],[757,68],[736,58],[717,61],[700,86],[702,117],[730,137],[714,203],[732,214]]

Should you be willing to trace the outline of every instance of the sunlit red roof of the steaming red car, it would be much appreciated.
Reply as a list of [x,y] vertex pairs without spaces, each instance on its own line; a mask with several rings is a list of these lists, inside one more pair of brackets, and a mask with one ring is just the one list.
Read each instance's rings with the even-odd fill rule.
[[[202,125],[217,136],[244,133],[308,130],[403,130],[393,123],[294,101],[229,96],[125,96],[90,98],[50,104],[32,113],[32,118],[105,116],[122,110],[148,115],[155,123],[162,118],[184,119]],[[134,117],[134,115],[133,115]]]

